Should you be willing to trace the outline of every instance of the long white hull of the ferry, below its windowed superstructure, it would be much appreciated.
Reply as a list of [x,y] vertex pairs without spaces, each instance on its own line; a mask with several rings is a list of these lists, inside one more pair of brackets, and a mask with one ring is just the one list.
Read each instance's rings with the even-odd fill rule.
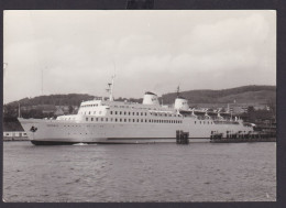
[[241,123],[215,124],[206,121],[195,124],[193,118],[184,119],[183,123],[94,123],[22,118],[19,121],[34,144],[176,142],[177,130],[188,132],[190,141],[207,141],[211,131],[252,131],[251,127]]

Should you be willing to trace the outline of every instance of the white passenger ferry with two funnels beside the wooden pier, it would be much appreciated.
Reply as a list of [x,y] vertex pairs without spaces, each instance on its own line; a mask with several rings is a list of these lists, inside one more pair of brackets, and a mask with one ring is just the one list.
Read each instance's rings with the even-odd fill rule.
[[156,143],[176,142],[176,131],[189,140],[210,139],[212,133],[249,133],[253,127],[230,113],[190,109],[179,96],[174,107],[160,105],[157,95],[147,91],[143,102],[114,101],[113,78],[109,99],[82,101],[77,114],[56,119],[18,118],[35,145],[75,143]]

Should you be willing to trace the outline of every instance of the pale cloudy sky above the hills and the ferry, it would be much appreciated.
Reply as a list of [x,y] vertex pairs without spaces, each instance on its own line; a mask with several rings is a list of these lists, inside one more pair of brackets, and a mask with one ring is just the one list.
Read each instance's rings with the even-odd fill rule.
[[274,10],[9,10],[3,102],[276,85]]

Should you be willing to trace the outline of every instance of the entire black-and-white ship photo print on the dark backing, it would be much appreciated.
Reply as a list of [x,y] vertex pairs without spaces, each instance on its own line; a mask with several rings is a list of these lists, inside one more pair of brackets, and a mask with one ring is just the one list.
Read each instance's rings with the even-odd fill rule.
[[276,201],[275,10],[4,10],[4,202]]

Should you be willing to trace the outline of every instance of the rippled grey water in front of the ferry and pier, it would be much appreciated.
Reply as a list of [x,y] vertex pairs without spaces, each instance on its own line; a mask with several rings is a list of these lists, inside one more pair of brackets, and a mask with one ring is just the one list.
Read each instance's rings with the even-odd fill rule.
[[276,143],[3,143],[6,201],[275,201]]

